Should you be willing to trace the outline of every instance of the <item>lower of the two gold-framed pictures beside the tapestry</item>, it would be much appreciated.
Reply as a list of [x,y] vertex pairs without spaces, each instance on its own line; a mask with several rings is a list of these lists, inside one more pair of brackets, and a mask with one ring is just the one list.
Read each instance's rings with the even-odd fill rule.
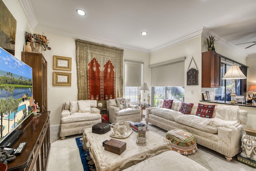
[[53,85],[71,86],[71,73],[53,72]]

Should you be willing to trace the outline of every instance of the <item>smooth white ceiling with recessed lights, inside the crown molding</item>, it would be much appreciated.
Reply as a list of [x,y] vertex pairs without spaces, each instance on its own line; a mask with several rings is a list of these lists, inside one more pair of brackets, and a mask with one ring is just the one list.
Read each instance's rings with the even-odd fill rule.
[[256,45],[244,49],[254,43],[235,45],[256,41],[256,0],[19,1],[32,27],[74,38],[150,53],[205,27],[245,56],[256,54]]

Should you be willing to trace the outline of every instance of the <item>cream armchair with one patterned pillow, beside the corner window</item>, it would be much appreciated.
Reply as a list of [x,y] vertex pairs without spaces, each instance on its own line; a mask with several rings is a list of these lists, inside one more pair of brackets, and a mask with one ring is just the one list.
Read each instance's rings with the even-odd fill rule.
[[141,110],[139,106],[131,105],[130,99],[118,97],[107,101],[109,121],[117,123],[122,121],[141,121]]

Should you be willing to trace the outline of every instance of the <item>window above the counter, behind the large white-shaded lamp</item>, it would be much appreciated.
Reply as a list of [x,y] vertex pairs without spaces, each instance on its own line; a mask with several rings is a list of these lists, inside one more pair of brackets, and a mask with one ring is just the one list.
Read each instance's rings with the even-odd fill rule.
[[[220,78],[228,71],[228,68],[232,66],[232,63],[223,61],[220,65]],[[240,67],[244,75],[247,75],[247,68],[245,66]],[[236,95],[244,95],[246,93],[246,79],[245,84],[243,80],[235,80]],[[245,90],[244,90],[245,89]],[[215,100],[230,101],[232,93],[232,80],[220,80],[220,88],[215,88]]]

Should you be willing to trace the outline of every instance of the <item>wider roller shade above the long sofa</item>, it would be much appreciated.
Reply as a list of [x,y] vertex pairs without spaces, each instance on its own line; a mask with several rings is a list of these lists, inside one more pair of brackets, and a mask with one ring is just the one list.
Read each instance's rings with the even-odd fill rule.
[[184,86],[185,62],[150,67],[150,86]]

